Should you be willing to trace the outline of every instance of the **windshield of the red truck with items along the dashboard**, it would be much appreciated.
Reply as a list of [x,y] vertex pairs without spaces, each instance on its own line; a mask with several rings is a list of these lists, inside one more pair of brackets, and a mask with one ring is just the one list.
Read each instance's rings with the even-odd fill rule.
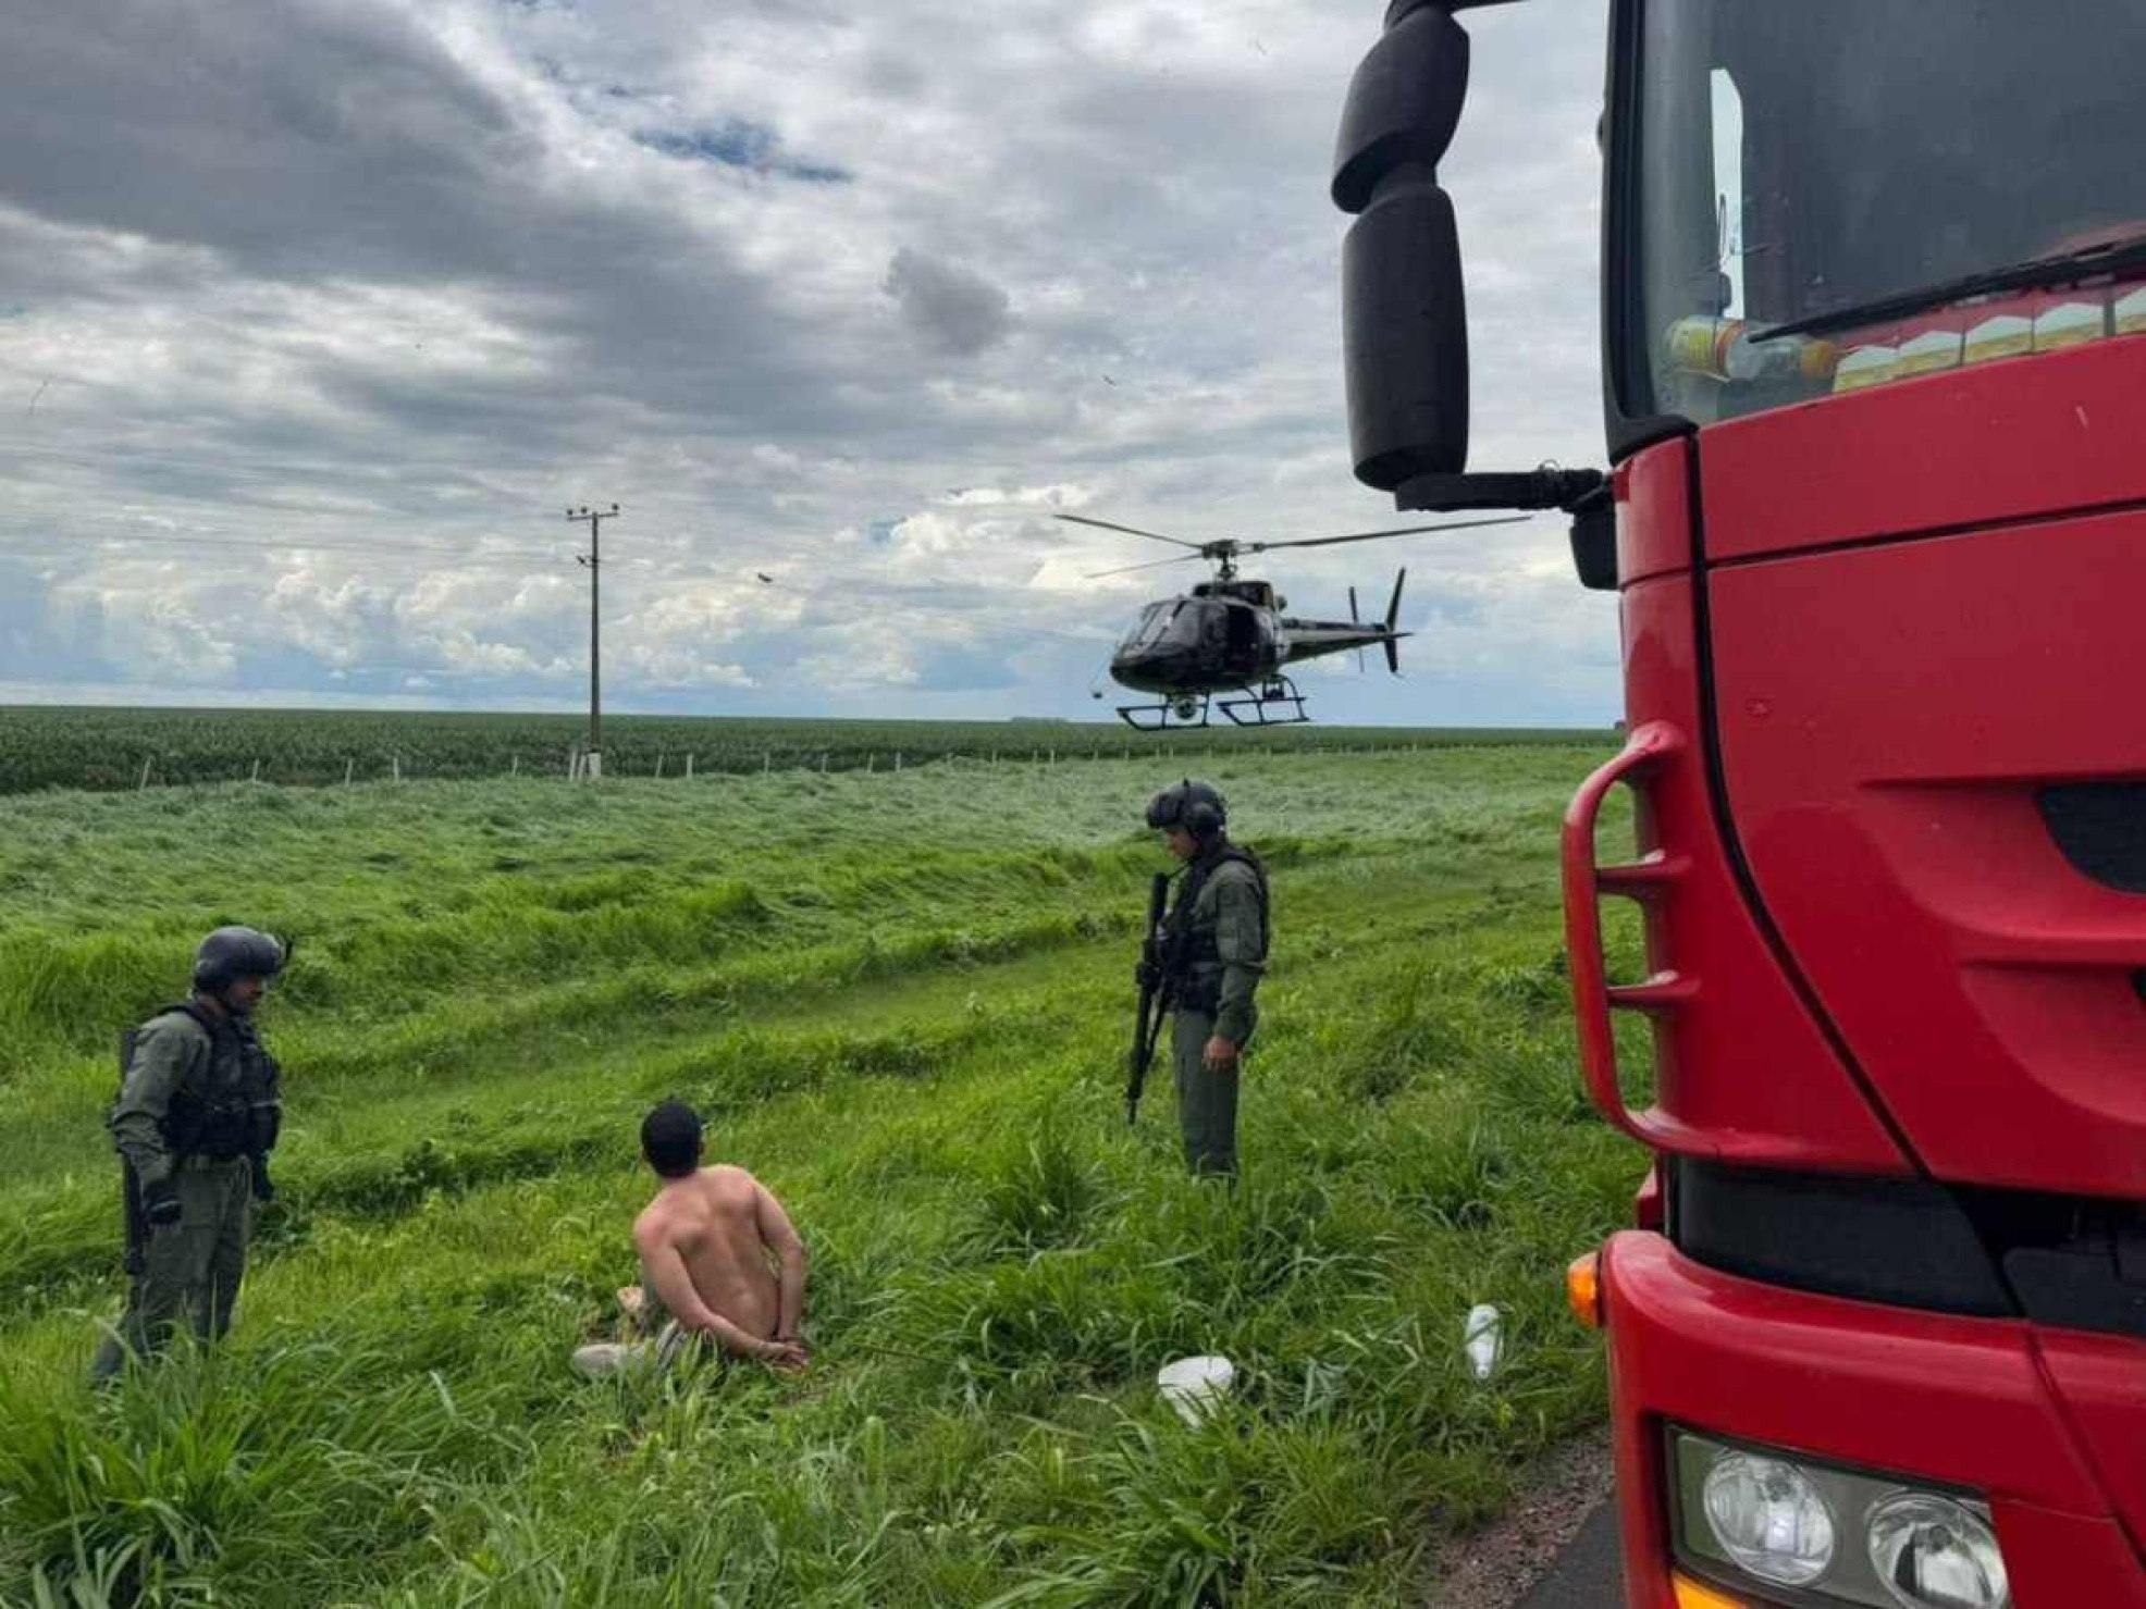
[[1629,412],[2146,333],[2137,0],[1644,2]]

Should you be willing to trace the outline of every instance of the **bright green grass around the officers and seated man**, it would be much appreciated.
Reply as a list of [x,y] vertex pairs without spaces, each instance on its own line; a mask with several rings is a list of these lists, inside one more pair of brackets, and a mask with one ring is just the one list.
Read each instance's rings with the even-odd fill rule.
[[[1605,753],[1206,762],[1275,877],[1234,1193],[1167,1068],[1125,1122],[1152,759],[6,800],[0,1603],[1425,1603],[1603,1416],[1560,1270],[1644,1161],[1554,852]],[[230,1343],[92,1394],[114,1040],[225,920],[300,940],[281,1199]],[[567,1364],[670,1094],[807,1238],[803,1377]]]

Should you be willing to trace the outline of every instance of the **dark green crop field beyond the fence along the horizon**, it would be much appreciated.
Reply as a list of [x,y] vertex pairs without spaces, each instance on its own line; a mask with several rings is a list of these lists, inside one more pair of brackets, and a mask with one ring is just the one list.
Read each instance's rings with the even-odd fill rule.
[[[1217,717],[1221,721],[1221,717]],[[603,723],[614,777],[751,770],[895,770],[936,759],[1131,759],[1208,753],[1590,742],[1541,729],[1268,727],[1137,736],[1116,721],[770,721],[616,714]],[[0,706],[0,794],[170,783],[567,777],[588,742],[577,714],[371,710],[124,710]]]

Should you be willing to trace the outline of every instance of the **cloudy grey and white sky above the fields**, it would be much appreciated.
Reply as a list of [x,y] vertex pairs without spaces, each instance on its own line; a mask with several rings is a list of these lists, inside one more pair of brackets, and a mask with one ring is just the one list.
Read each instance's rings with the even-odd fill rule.
[[[0,702],[1107,710],[1191,538],[1354,483],[1335,120],[1378,0],[71,0],[0,54]],[[1468,13],[1472,468],[1601,459],[1603,6]],[[1328,721],[1607,723],[1560,521],[1408,564]],[[770,579],[760,579],[770,577]],[[1333,674],[1328,674],[1333,669]]]

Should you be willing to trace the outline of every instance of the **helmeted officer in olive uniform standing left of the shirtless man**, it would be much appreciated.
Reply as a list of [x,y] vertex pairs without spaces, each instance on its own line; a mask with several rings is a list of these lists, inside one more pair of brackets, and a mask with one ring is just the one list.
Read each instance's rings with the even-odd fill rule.
[[133,1289],[118,1332],[97,1349],[94,1379],[116,1375],[129,1354],[161,1352],[180,1313],[204,1341],[232,1324],[253,1204],[275,1199],[268,1152],[283,1118],[281,1071],[253,1010],[285,959],[268,933],[219,927],[195,953],[193,995],[122,1036],[112,1139]]

